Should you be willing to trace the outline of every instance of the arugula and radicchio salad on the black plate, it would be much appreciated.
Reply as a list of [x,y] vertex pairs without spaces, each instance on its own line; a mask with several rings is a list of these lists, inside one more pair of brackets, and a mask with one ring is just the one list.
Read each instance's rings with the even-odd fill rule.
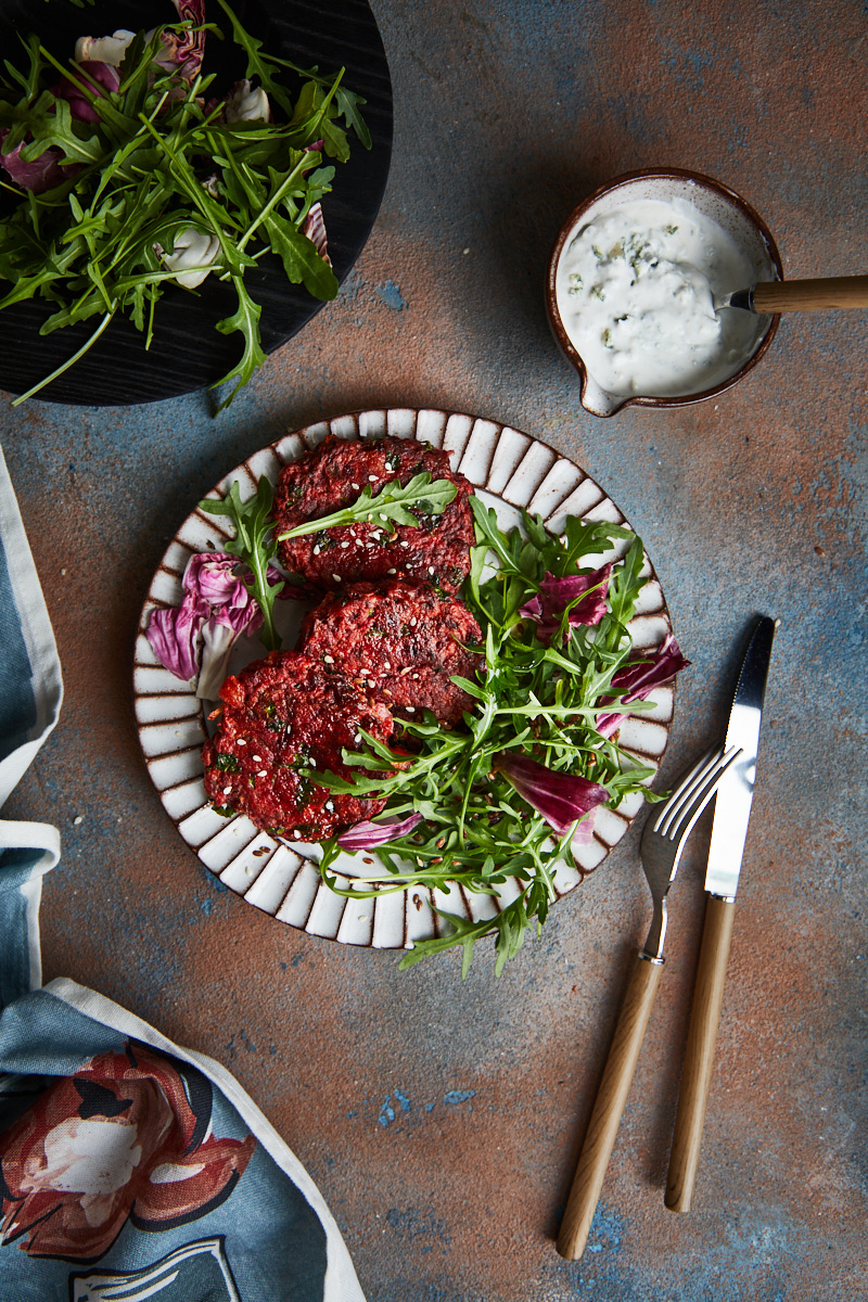
[[[95,323],[83,348],[17,402],[120,314],[147,348],[167,288],[193,292],[213,273],[236,302],[217,329],[243,341],[219,381],[233,384],[226,406],[264,361],[262,309],[245,281],[263,254],[315,298],[337,293],[320,208],[334,176],[325,158],[349,158],[345,128],[370,147],[363,100],[342,70],[321,77],[268,55],[228,0],[217,0],[225,33],[206,23],[204,0],[174,3],[180,21],[85,36],[68,62],[38,35],[22,38],[25,61],[7,60],[0,74],[0,184],[20,197],[0,220],[0,280],[12,283],[0,311],[42,298],[55,305],[43,335]],[[232,87],[202,73],[207,33],[237,47]]]

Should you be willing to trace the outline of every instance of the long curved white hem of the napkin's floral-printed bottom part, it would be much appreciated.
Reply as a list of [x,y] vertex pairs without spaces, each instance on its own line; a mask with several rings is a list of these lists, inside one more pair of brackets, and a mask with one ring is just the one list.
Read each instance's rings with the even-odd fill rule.
[[99,995],[94,990],[88,990],[86,986],[79,986],[68,976],[57,976],[43,988],[47,993],[53,995],[55,999],[60,999],[77,1012],[83,1013],[85,1017],[91,1017],[94,1021],[102,1022],[104,1026],[109,1026],[122,1035],[141,1040],[143,1044],[150,1044],[152,1048],[161,1049],[164,1053],[172,1053],[185,1062],[193,1064],[193,1066],[207,1075],[226,1096],[233,1108],[236,1108],[250,1128],[251,1134],[256,1137],[280,1169],[301,1189],[307,1202],[319,1215],[325,1228],[328,1262],[323,1302],[366,1302],[353,1259],[325,1199],[289,1144],[275,1130],[264,1113],[259,1111],[250,1095],[242,1090],[230,1072],[204,1053],[174,1044],[148,1022],[137,1017],[135,1013],[128,1012],[120,1004],[115,1004],[111,999]]

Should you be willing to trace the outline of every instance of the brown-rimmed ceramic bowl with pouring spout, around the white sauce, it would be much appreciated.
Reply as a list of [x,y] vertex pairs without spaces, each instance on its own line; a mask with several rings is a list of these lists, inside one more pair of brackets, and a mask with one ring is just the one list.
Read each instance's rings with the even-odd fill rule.
[[[566,332],[557,302],[557,273],[565,249],[574,237],[595,217],[601,216],[623,203],[658,199],[687,201],[701,216],[716,221],[735,241],[737,247],[747,259],[752,271],[752,283],[761,280],[782,280],[781,256],[772,234],[753,208],[727,186],[713,181],[699,172],[685,172],[678,168],[666,171],[648,169],[630,172],[616,177],[579,204],[561,227],[552,250],[545,285],[545,306],[554,339],[570,366],[575,367],[582,380],[582,406],[593,415],[614,415],[625,406],[677,408],[691,402],[704,402],[738,383],[743,375],[752,371],[769,348],[778,327],[780,316],[757,318],[757,331],[750,349],[734,363],[734,370],[724,380],[696,393],[683,393],[673,397],[652,397],[642,393],[608,393],[588,374],[575,344]],[[739,286],[747,289],[748,286]]]

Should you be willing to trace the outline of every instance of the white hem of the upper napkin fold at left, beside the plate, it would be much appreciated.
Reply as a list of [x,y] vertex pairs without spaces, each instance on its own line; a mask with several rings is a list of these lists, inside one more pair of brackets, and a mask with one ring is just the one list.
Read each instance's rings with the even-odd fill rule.
[[64,680],[57,643],[48,618],[39,574],[34,564],[18,500],[12,487],[3,448],[0,447],[0,523],[7,552],[9,582],[14,598],[21,634],[34,677],[38,734],[0,762],[0,806],[23,777],[36,751],[53,729],[64,699]]

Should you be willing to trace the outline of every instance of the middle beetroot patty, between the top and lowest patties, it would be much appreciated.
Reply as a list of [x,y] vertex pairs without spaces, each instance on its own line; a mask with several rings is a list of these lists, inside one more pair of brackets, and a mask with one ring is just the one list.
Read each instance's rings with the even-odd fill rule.
[[466,647],[480,641],[462,602],[394,579],[351,583],[327,596],[306,616],[298,644],[394,713],[431,710],[440,723],[455,724],[474,700],[450,678],[474,681],[483,659]]

